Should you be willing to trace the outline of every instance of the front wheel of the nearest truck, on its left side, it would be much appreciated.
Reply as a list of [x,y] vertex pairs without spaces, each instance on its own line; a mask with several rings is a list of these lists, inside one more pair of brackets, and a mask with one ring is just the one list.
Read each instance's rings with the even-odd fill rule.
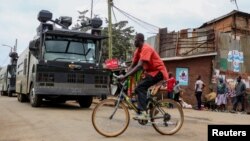
[[40,95],[35,94],[34,87],[31,85],[30,87],[30,104],[32,107],[40,107],[42,104],[42,98]]

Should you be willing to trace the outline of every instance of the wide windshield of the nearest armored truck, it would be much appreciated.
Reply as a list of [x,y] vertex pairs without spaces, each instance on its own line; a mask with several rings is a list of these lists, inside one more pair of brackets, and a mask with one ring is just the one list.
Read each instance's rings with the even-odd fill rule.
[[45,40],[44,59],[66,62],[95,63],[96,43],[93,40]]

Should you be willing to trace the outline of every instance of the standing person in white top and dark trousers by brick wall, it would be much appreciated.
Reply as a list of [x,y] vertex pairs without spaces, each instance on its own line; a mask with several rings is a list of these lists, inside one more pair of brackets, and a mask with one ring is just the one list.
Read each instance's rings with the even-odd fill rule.
[[195,82],[195,96],[197,99],[197,110],[201,110],[201,96],[202,96],[202,91],[204,87],[205,87],[205,84],[201,80],[201,76],[199,75]]

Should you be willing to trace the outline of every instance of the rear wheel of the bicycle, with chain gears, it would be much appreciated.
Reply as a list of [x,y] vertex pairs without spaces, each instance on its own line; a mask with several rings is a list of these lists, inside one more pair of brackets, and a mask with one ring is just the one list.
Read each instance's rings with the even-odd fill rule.
[[184,122],[184,114],[179,103],[171,99],[159,101],[151,111],[152,125],[162,135],[173,135]]

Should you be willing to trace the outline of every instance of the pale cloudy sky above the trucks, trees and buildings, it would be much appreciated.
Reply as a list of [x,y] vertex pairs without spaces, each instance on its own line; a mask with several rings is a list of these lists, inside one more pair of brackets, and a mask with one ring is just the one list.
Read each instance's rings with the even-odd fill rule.
[[[159,28],[168,31],[178,31],[187,28],[197,28],[203,23],[237,10],[231,0],[113,0],[114,5],[126,13]],[[91,0],[0,0],[0,66],[10,62],[10,47],[17,39],[17,53],[21,54],[28,47],[30,40],[36,35],[39,25],[37,15],[40,10],[49,10],[53,19],[60,16],[71,16],[76,24],[79,13],[89,10],[91,15]],[[237,0],[240,11],[250,13],[249,0]],[[105,20],[108,17],[107,0],[93,0],[93,15]],[[157,33],[155,28],[146,24],[134,22],[121,12],[113,9],[112,21],[127,20],[128,26],[134,27],[146,37]],[[105,25],[104,25],[105,26]]]

